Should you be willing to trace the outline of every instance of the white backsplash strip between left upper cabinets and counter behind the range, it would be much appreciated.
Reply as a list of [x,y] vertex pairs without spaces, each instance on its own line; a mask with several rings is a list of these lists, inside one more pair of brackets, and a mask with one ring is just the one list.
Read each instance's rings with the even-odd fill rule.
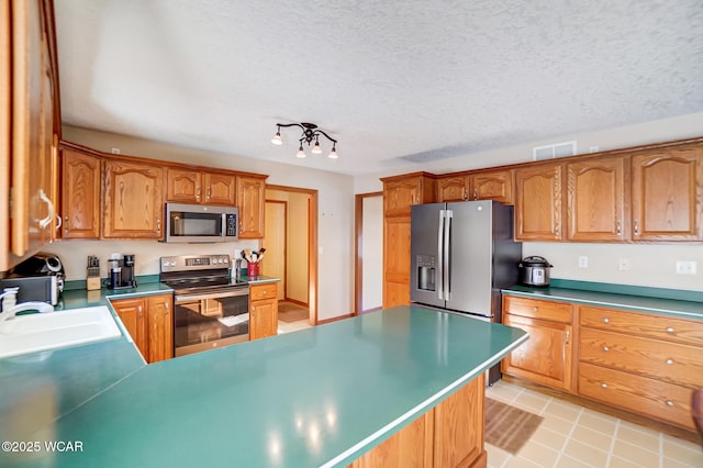
[[158,275],[159,258],[169,255],[230,254],[235,249],[258,249],[259,241],[239,241],[222,244],[165,244],[156,241],[62,241],[42,252],[57,255],[64,264],[67,280],[85,279],[88,255],[100,259],[100,277],[108,277],[110,255],[134,254],[135,275]]

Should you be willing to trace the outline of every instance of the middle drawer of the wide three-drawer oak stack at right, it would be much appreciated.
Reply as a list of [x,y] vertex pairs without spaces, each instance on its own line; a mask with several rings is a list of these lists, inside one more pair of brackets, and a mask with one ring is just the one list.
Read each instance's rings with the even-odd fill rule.
[[580,360],[676,385],[703,387],[703,353],[693,346],[581,328]]

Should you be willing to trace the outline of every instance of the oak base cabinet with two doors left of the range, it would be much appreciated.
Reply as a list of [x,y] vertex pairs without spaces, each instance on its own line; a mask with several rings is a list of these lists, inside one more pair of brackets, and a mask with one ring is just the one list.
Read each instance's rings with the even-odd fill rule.
[[172,294],[116,299],[110,303],[147,363],[174,357]]

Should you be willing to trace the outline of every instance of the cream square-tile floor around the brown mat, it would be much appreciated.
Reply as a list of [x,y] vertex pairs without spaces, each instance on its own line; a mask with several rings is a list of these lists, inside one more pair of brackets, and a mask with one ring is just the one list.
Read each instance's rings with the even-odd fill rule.
[[502,380],[486,394],[544,416],[516,455],[487,444],[489,468],[703,467],[703,448],[692,442]]

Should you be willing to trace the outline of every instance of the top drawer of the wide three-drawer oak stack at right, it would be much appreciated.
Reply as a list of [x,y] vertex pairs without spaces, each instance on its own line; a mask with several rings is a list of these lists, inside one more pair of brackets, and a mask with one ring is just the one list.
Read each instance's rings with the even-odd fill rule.
[[584,305],[579,308],[579,314],[581,326],[703,346],[703,321]]

